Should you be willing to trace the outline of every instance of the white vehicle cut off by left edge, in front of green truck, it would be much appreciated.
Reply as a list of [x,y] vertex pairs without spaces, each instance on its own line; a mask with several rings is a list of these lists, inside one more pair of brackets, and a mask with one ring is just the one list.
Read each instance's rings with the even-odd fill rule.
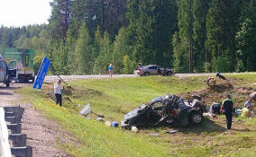
[[8,73],[8,66],[4,58],[0,54],[0,83],[5,83],[6,87],[10,86],[10,76]]

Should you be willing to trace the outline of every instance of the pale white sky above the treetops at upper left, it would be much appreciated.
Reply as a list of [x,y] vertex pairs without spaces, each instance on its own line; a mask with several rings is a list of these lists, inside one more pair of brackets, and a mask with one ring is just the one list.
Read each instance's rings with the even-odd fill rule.
[[53,0],[0,0],[0,26],[22,27],[48,23]]

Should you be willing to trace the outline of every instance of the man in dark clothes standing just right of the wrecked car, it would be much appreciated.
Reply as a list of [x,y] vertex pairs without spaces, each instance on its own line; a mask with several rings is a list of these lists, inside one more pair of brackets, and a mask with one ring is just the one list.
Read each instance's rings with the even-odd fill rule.
[[231,129],[232,125],[232,117],[233,117],[233,100],[231,99],[230,94],[226,95],[226,99],[223,101],[222,107],[220,109],[221,114],[223,113],[226,118],[226,127],[227,129]]

